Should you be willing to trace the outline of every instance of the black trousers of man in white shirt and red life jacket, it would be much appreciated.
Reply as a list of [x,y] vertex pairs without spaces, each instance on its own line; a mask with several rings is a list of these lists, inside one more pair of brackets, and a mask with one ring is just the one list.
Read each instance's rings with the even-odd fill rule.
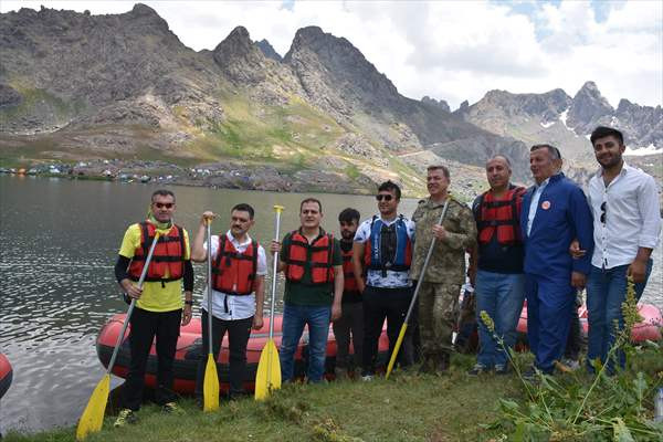
[[[202,396],[202,385],[204,382],[204,370],[209,352],[209,319],[206,309],[201,312],[202,319],[202,352],[198,362],[198,372],[196,376],[196,394]],[[214,360],[219,358],[223,335],[228,332],[229,343],[229,366],[230,366],[230,394],[241,394],[244,392],[244,375],[246,371],[246,345],[251,336],[251,325],[253,316],[246,319],[223,320],[212,316],[212,355]],[[219,370],[217,370],[219,375]]]

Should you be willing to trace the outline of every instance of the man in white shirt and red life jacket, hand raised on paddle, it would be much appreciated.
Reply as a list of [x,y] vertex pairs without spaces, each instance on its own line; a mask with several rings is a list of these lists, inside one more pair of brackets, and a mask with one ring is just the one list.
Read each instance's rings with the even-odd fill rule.
[[[241,203],[232,208],[230,230],[224,234],[212,235],[212,354],[219,358],[221,341],[228,330],[230,390],[229,397],[241,396],[244,392],[243,382],[246,371],[246,345],[251,328],[257,330],[263,325],[263,299],[267,263],[265,251],[255,240],[249,236],[253,227],[254,211],[249,204]],[[193,241],[191,260],[207,261],[204,241],[207,220],[215,214],[206,211],[200,220],[200,227]],[[209,282],[208,282],[209,283]],[[209,352],[208,337],[208,291],[202,299],[202,351],[198,362],[196,378],[196,394],[202,396],[206,360]]]

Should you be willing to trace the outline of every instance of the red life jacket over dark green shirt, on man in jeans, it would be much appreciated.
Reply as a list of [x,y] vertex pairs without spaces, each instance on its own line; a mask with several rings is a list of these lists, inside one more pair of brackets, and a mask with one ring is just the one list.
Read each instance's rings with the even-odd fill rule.
[[327,284],[334,281],[334,236],[320,229],[318,238],[308,243],[298,230],[291,232],[290,246],[285,260],[285,277],[299,282],[304,277],[306,262],[311,263],[313,284]]

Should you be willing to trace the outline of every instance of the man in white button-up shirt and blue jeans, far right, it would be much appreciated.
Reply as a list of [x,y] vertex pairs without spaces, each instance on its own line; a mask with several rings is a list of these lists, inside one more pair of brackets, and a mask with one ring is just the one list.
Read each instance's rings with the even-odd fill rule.
[[[621,131],[599,126],[590,140],[601,168],[589,180],[594,250],[587,284],[587,359],[590,371],[591,362],[600,359],[612,372],[617,361],[622,368],[625,362],[623,351],[617,351],[610,361],[606,359],[614,344],[614,322],[623,327],[627,278],[633,278],[640,299],[652,269],[651,253],[659,242],[661,210],[654,178],[623,160]],[[575,256],[583,254],[578,249],[571,245]]]

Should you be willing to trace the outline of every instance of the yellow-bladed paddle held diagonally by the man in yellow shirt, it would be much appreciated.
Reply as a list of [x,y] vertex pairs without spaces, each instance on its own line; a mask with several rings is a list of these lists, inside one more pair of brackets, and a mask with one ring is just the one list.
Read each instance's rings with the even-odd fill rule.
[[[143,266],[140,278],[138,280],[139,288],[143,288],[143,282],[145,281],[145,276],[147,276],[147,270],[158,241],[159,232],[157,231],[155,233],[155,239],[152,240],[151,246],[149,248],[149,252],[147,253],[147,257],[145,259],[145,265]],[[81,414],[81,420],[78,421],[78,427],[76,428],[76,440],[78,441],[84,440],[90,433],[96,433],[104,424],[104,413],[106,412],[106,403],[108,402],[108,393],[110,392],[110,370],[113,370],[113,366],[115,365],[115,359],[119,352],[122,339],[127,330],[129,318],[131,317],[131,313],[134,313],[135,306],[136,298],[133,297],[129,308],[127,309],[127,316],[125,317],[125,322],[122,326],[122,332],[119,335],[117,335],[117,340],[115,343],[115,348],[113,349],[110,362],[108,362],[108,368],[106,369],[106,375],[104,375],[102,380],[99,380],[99,383],[97,383],[96,388],[92,392],[92,396],[90,397],[90,400],[87,401],[85,410],[83,410],[83,414]]]

